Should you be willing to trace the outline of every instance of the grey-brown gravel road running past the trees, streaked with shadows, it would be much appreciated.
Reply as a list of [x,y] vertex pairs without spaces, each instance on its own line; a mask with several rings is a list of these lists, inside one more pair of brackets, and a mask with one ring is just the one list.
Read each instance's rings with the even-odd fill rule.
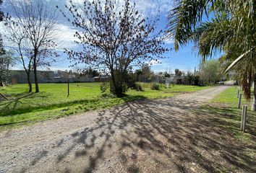
[[193,114],[227,87],[1,132],[0,172],[216,172],[232,167],[242,159],[240,146],[208,117]]

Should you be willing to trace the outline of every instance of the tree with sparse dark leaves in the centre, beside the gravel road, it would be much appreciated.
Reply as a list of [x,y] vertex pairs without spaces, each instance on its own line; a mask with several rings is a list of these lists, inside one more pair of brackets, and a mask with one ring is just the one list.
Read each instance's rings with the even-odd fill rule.
[[[58,8],[58,6],[57,6]],[[126,78],[132,66],[163,58],[161,32],[155,31],[157,19],[145,20],[129,0],[84,1],[77,6],[66,5],[69,14],[61,10],[67,21],[77,27],[75,43],[82,50],[66,50],[75,63],[88,68],[106,69],[111,74],[111,92],[123,94]],[[71,15],[70,15],[71,14]],[[69,17],[71,16],[71,17]]]

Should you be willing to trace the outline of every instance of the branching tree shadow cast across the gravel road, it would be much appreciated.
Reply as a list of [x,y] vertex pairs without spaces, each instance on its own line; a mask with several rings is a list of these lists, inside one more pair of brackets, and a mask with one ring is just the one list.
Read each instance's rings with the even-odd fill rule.
[[[72,134],[56,164],[74,156],[84,172],[255,172],[255,158],[248,154],[255,146],[234,139],[221,115],[192,114],[198,105],[144,100],[100,111],[96,125]],[[109,167],[102,168],[106,161]]]

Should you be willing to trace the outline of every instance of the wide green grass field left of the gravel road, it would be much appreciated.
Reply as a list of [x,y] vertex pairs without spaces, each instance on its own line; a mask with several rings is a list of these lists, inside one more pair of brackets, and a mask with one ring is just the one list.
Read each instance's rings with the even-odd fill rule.
[[126,96],[102,97],[101,83],[40,84],[40,93],[28,93],[27,84],[16,84],[0,89],[10,100],[0,102],[0,126],[33,123],[88,110],[112,107],[137,99],[172,97],[183,92],[196,92],[207,87],[176,85],[169,89],[151,90],[150,84],[142,84],[145,92],[129,90]]

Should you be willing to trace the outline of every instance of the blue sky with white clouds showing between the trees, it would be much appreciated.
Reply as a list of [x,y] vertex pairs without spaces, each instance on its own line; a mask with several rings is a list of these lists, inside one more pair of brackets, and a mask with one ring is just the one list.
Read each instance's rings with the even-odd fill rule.
[[[8,0],[4,0],[8,1]],[[35,0],[36,1],[36,0]],[[49,5],[53,8],[58,5],[61,9],[64,9],[64,5],[68,3],[69,0],[46,0]],[[83,0],[73,0],[75,3],[80,4]],[[135,0],[133,0],[135,1]],[[171,0],[136,0],[136,6],[139,12],[142,13],[144,17],[156,17],[160,16],[160,21],[158,22],[158,29],[164,29],[167,25],[167,15],[168,11],[174,5]],[[4,12],[9,12],[9,8],[7,3],[4,2],[1,7]],[[159,12],[158,12],[159,10]],[[56,49],[60,54],[60,58],[56,63],[52,63],[50,69],[51,70],[68,70],[72,69],[69,67],[72,63],[67,60],[67,55],[63,53],[64,48],[77,48],[77,45],[74,41],[74,32],[76,29],[72,27],[72,25],[64,19],[64,17],[59,14],[58,17],[58,25],[59,25],[59,35],[58,35],[58,43],[59,47]],[[0,26],[2,30],[2,25]],[[4,39],[5,45],[8,46],[7,40]],[[168,53],[166,53],[166,58],[159,61],[153,62],[151,69],[155,72],[165,72],[174,73],[175,68],[179,68],[182,71],[194,71],[195,67],[198,68],[198,64],[200,61],[200,57],[197,56],[197,53],[193,50],[193,43],[189,43],[188,45],[180,48],[179,51],[175,51],[174,42],[170,38],[165,41],[166,48],[170,48]],[[213,58],[216,58],[213,56]],[[22,67],[15,66],[14,69],[20,69]]]

